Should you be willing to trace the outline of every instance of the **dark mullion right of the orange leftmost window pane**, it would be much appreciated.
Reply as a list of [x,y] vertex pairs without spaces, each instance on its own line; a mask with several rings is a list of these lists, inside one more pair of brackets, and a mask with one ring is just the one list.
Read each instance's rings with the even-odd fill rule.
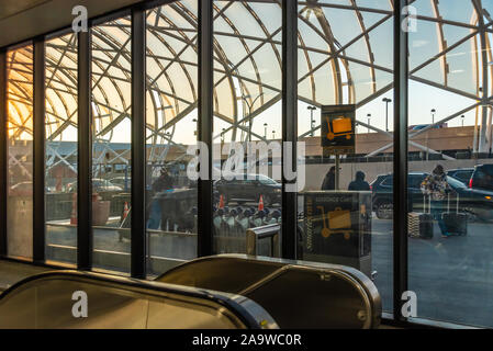
[[45,41],[34,41],[33,261],[45,261]]

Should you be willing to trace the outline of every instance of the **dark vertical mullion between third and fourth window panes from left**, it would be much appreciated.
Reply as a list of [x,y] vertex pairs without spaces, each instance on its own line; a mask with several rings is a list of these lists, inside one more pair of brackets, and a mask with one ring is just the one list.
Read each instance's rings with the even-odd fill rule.
[[132,10],[132,235],[131,275],[146,275],[146,12]]

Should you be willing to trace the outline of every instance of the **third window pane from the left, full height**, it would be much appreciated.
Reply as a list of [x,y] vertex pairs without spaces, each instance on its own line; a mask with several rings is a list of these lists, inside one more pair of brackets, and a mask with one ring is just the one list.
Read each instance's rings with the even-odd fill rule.
[[[131,21],[92,30],[93,267],[130,271]],[[77,191],[77,183],[72,186]]]

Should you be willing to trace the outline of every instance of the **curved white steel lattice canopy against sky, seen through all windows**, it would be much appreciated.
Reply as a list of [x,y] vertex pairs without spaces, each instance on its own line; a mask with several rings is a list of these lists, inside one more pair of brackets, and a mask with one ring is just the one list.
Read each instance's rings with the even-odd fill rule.
[[[462,1],[457,8],[435,0],[410,1],[413,21],[425,30],[427,49],[410,49],[410,79],[471,100],[445,116],[444,123],[477,109],[478,151],[491,147],[493,97],[493,20],[491,3]],[[300,0],[298,2],[299,100],[321,106],[355,103],[361,107],[392,90],[393,1]],[[459,11],[460,10],[460,11]],[[247,124],[281,100],[281,2],[279,0],[214,1],[214,115],[226,123],[214,138],[229,140],[251,134]],[[434,29],[434,31],[430,31]],[[197,91],[198,7],[194,0],[171,2],[147,11],[147,143],[150,161],[163,161],[180,121],[194,114]],[[127,162],[110,147],[115,127],[131,117],[131,22],[113,20],[92,29],[93,140],[105,144],[111,160]],[[9,136],[32,137],[32,47],[9,54]],[[460,57],[460,58],[458,58]],[[31,121],[31,122],[30,122]],[[389,138],[392,134],[358,123]],[[415,147],[434,152],[412,139],[433,126],[410,134]],[[67,34],[46,42],[47,167],[69,163],[55,141],[75,140],[77,128],[77,42]],[[314,129],[320,128],[315,125]],[[307,136],[312,129],[300,134]],[[74,148],[75,152],[75,148]],[[130,152],[130,151],[126,151]],[[99,154],[101,155],[104,152]],[[11,159],[11,162],[15,160]]]

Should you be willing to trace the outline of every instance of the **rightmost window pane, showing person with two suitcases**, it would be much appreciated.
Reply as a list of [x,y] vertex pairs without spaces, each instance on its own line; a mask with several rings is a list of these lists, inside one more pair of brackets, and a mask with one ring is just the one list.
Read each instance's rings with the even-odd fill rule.
[[419,318],[492,327],[491,2],[415,5],[423,16],[408,44],[410,290]]

